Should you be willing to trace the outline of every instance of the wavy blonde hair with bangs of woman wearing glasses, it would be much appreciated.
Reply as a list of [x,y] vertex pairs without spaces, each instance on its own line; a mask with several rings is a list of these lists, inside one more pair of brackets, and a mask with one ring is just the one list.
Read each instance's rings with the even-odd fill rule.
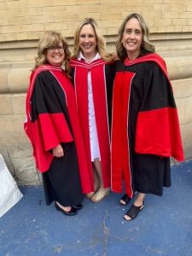
[[[44,65],[44,64],[49,64],[47,61],[46,55],[47,55],[47,49],[50,46],[57,47],[60,43],[63,44],[63,49],[65,52],[65,59],[61,65],[64,66],[67,75],[69,76],[70,74],[70,66],[69,66],[69,61],[70,61],[70,51],[68,49],[68,44],[65,40],[65,38],[61,35],[60,32],[55,32],[55,31],[48,31],[44,32],[43,37],[39,40],[38,43],[38,56],[35,58],[35,67]],[[33,69],[33,70],[34,70]]]

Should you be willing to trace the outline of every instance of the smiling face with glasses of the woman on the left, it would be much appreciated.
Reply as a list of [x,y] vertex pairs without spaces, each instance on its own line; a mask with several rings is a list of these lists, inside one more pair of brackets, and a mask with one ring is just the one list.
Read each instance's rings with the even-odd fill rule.
[[61,67],[65,59],[63,44],[60,42],[57,46],[51,46],[47,49],[46,58],[50,65]]

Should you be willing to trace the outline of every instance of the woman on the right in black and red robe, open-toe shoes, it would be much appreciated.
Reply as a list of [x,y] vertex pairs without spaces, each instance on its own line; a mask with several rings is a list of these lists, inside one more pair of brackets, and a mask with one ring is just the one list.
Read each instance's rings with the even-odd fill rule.
[[138,14],[128,15],[116,44],[119,61],[113,84],[112,190],[125,192],[125,220],[137,217],[146,194],[162,195],[171,186],[170,157],[183,160],[177,108],[166,64],[148,42],[148,27]]

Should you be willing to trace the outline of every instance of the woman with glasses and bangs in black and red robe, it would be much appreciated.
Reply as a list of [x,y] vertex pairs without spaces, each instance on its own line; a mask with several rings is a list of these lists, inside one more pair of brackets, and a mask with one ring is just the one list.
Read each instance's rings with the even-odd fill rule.
[[43,173],[47,205],[55,201],[56,210],[71,216],[82,208],[83,193],[90,191],[90,184],[73,84],[68,78],[69,57],[61,34],[45,32],[27,90],[25,129],[36,166]]

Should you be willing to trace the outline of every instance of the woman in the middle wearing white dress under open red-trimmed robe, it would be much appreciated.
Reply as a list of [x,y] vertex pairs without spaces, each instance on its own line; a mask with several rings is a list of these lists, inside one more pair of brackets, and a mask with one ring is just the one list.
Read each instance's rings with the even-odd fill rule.
[[111,90],[113,84],[104,39],[96,20],[84,19],[74,37],[74,54],[70,62],[77,97],[80,125],[89,160],[92,192],[85,196],[101,201],[110,190]]

